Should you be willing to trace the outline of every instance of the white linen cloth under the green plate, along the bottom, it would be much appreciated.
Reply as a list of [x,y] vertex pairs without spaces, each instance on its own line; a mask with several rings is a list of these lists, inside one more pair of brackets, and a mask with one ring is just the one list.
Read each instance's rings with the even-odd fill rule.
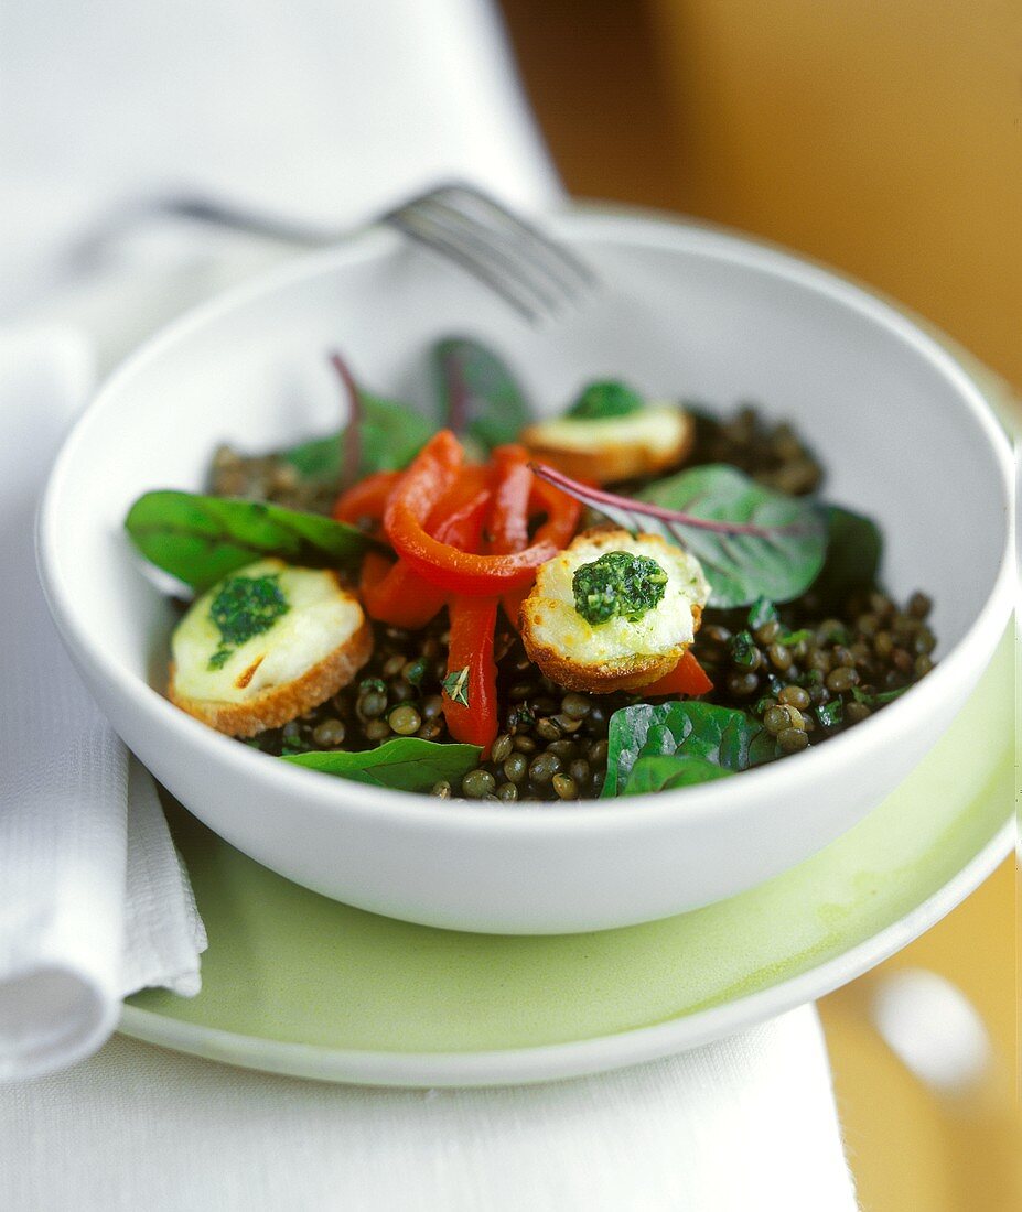
[[683,1056],[547,1086],[332,1086],[118,1036],[68,1073],[0,1091],[0,1207],[139,1205],[856,1210],[812,1006]]

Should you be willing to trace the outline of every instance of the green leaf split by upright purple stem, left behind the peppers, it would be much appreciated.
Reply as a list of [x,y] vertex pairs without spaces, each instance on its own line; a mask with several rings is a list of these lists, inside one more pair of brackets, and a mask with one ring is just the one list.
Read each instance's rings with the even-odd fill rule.
[[344,442],[356,442],[356,479],[373,471],[400,471],[411,463],[433,436],[433,425],[406,404],[370,395],[359,388],[360,412],[353,435],[342,429],[326,438],[313,438],[281,451],[303,480],[341,485],[344,470]]

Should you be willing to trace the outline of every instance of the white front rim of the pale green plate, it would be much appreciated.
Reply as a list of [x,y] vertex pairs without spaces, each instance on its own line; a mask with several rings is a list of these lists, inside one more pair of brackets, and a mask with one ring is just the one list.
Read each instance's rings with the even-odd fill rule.
[[266,1040],[121,1006],[118,1031],[242,1069],[335,1084],[405,1088],[537,1085],[660,1060],[747,1030],[862,976],[935,926],[1015,848],[1014,813],[936,892],[875,934],[780,984],[628,1031],[538,1047],[466,1052],[331,1048]]

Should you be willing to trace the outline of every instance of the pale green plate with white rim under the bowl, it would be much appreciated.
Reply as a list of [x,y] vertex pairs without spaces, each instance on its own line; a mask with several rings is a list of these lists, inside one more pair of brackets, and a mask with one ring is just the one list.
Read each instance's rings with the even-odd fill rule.
[[925,761],[827,850],[730,901],[555,937],[456,933],[320,897],[172,806],[211,944],[193,999],[121,1030],[215,1060],[373,1085],[486,1085],[652,1059],[852,979],[936,922],[1011,846],[1005,636]]

